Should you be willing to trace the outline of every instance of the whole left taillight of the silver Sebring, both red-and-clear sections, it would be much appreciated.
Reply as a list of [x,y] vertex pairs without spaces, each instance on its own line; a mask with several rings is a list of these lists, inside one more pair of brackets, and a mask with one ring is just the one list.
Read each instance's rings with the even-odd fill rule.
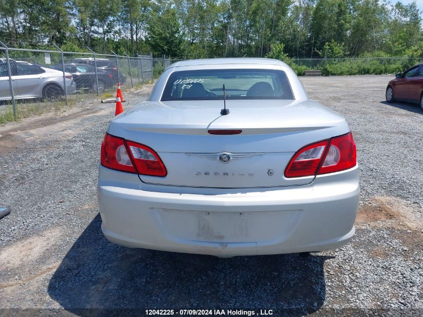
[[158,177],[167,175],[165,165],[152,148],[107,133],[101,145],[101,164],[128,173]]

